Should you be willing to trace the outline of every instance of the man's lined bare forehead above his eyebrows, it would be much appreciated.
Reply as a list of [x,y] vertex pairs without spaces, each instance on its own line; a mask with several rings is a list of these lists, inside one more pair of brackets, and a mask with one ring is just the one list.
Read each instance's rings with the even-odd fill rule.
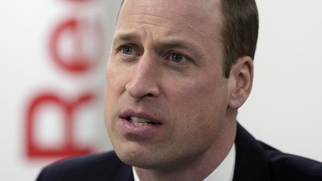
[[220,28],[219,6],[219,0],[125,0],[117,30],[136,23],[209,37]]

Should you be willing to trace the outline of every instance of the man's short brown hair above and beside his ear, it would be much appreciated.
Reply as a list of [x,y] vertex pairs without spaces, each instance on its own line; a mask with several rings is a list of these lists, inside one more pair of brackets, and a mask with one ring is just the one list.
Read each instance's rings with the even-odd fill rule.
[[231,66],[239,58],[249,56],[254,60],[259,27],[258,10],[255,0],[220,0],[220,10],[223,76],[228,78]]

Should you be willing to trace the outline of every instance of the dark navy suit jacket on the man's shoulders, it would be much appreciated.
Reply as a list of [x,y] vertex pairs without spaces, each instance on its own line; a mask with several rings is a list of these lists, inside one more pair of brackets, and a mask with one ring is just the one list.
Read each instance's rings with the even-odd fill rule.
[[[322,181],[322,163],[281,153],[237,126],[233,181]],[[133,181],[115,152],[67,159],[42,170],[37,181]]]

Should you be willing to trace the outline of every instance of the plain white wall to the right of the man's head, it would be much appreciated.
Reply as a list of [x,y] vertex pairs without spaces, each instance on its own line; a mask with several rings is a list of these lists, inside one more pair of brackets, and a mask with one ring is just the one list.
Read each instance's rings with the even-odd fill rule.
[[281,151],[322,161],[322,1],[257,4],[254,86],[238,120]]

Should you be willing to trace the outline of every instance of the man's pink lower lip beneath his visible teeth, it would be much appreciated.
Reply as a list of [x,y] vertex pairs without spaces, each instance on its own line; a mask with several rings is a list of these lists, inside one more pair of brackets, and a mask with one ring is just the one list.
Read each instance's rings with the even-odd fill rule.
[[123,133],[131,136],[142,136],[142,138],[147,138],[155,135],[161,130],[162,124],[144,125],[136,126],[126,119],[120,119],[121,129]]

